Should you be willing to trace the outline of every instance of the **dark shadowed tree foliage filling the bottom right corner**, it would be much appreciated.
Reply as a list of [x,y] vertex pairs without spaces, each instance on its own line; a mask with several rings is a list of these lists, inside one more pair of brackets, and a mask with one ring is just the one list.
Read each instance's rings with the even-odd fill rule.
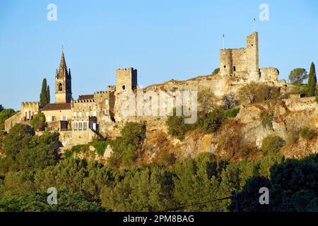
[[[285,160],[270,169],[271,177],[252,177],[241,192],[243,211],[317,211],[318,155],[301,160]],[[258,203],[258,191],[267,187],[269,205]]]

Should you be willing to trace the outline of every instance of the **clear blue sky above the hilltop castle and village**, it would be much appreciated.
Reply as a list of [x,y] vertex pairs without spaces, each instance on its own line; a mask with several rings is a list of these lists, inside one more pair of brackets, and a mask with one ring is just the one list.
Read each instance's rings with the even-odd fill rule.
[[[47,5],[57,5],[57,21]],[[259,5],[269,21],[259,21]],[[225,47],[245,47],[257,18],[259,66],[288,78],[318,65],[318,1],[0,1],[0,104],[38,101],[43,78],[54,101],[61,44],[73,97],[105,90],[117,68],[138,69],[139,85],[211,73]]]

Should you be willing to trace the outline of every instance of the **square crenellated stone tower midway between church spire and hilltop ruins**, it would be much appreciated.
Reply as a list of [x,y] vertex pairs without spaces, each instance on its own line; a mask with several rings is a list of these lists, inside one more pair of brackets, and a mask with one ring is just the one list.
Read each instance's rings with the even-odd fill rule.
[[137,87],[137,69],[116,70],[116,93],[124,90],[134,90]]

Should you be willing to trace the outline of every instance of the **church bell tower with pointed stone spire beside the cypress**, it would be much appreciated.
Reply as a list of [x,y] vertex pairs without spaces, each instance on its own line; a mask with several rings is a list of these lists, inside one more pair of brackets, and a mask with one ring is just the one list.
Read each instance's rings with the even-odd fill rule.
[[62,47],[61,61],[59,63],[59,71],[55,72],[55,102],[65,103],[71,102],[71,69],[69,71],[66,67],[64,58],[64,49]]

